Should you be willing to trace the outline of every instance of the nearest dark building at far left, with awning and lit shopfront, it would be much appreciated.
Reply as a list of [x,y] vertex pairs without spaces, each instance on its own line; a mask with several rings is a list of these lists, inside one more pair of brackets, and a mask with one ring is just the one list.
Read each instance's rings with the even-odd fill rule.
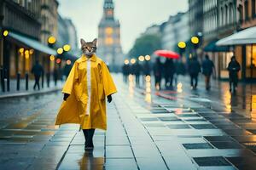
[[2,78],[16,77],[17,73],[25,77],[36,59],[49,72],[49,65],[54,62],[49,55],[56,52],[46,44],[48,37],[57,33],[54,18],[57,1],[2,0],[0,3],[1,34],[6,33],[0,37]]

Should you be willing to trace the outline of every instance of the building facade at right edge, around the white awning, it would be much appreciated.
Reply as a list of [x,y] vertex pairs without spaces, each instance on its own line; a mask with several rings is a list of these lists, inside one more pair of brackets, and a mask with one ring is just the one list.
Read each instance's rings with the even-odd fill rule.
[[217,47],[215,42],[241,31],[255,23],[254,0],[204,0],[203,8],[203,40],[205,53],[209,54],[216,65],[217,77],[229,77],[227,66],[230,58],[235,55],[241,65],[239,77],[241,80],[251,80],[256,77],[253,59],[256,59],[254,45],[236,45],[232,47]]

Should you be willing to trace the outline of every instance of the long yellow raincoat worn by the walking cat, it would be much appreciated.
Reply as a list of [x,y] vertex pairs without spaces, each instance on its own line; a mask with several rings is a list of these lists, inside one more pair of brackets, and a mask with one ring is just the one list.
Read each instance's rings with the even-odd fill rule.
[[105,99],[116,92],[108,67],[102,59],[94,54],[88,60],[83,54],[73,64],[62,89],[62,93],[70,96],[62,102],[55,125],[77,123],[82,129],[106,130]]

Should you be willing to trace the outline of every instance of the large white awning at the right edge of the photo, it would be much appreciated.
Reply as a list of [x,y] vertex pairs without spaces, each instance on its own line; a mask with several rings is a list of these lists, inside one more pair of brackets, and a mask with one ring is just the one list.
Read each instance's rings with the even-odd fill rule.
[[256,43],[256,26],[247,28],[246,30],[236,32],[229,37],[218,40],[218,46],[226,45],[242,45]]

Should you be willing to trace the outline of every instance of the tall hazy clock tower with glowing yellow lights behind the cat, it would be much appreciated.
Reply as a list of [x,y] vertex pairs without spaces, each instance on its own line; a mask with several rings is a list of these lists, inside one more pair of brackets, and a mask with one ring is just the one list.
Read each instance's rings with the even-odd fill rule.
[[102,20],[98,26],[97,54],[108,65],[110,71],[119,71],[123,64],[123,52],[120,45],[120,25],[114,19],[112,0],[105,0]]

